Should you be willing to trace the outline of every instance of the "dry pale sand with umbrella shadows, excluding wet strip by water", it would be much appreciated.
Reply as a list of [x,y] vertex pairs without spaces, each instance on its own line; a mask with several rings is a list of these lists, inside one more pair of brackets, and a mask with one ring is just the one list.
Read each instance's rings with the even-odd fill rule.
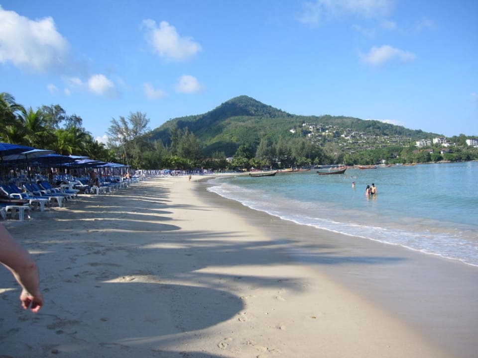
[[23,311],[1,269],[0,357],[452,357],[196,185],[154,179],[4,222],[45,306]]

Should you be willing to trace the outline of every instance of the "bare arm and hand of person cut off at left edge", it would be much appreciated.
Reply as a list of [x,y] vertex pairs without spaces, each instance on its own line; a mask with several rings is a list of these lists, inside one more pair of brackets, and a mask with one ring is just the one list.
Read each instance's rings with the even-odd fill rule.
[[43,297],[40,293],[40,279],[35,261],[2,224],[0,224],[0,263],[11,271],[22,287],[20,293],[22,307],[38,312],[43,306]]

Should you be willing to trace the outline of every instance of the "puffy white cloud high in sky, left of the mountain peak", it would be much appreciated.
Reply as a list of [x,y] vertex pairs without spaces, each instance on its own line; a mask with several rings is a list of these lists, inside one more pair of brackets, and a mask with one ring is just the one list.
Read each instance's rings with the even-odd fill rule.
[[153,50],[167,60],[183,61],[201,51],[201,45],[191,37],[181,37],[176,28],[166,21],[161,21],[158,28],[154,20],[146,19],[141,28],[146,30],[146,37]]

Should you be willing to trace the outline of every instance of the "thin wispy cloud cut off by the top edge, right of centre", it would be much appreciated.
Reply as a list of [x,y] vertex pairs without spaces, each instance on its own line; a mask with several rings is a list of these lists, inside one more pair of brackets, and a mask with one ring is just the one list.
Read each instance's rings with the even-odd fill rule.
[[323,19],[334,16],[358,15],[382,17],[388,15],[394,0],[315,0],[303,3],[304,11],[298,21],[318,25]]

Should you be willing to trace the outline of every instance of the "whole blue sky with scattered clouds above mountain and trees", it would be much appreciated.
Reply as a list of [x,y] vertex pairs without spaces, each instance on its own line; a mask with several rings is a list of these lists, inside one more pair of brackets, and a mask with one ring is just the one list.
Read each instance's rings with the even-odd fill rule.
[[478,135],[478,1],[0,0],[0,92],[95,138],[238,95],[302,115]]

